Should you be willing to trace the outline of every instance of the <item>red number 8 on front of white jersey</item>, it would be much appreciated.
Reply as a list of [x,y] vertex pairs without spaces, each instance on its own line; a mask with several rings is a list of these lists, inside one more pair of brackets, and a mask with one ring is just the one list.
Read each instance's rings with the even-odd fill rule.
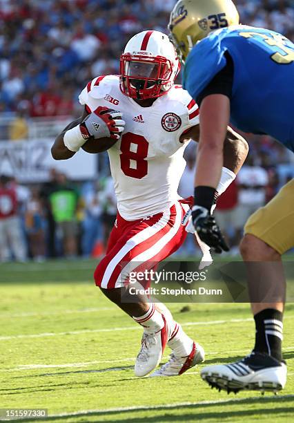
[[[133,145],[132,145],[133,144]],[[148,141],[142,135],[127,132],[121,137],[121,170],[130,178],[141,179],[148,173]]]

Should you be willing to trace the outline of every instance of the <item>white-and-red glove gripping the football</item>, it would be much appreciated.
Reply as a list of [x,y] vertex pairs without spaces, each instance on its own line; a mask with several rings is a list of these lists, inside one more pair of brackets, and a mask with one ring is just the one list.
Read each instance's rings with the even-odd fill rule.
[[79,125],[79,129],[86,140],[91,136],[95,140],[99,138],[119,140],[126,124],[121,117],[120,111],[99,106],[84,119],[84,122]]

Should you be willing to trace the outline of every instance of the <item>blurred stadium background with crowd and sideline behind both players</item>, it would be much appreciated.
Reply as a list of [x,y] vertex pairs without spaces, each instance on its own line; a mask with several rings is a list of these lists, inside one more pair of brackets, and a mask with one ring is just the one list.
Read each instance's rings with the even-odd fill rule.
[[[116,212],[107,154],[79,153],[54,162],[50,146],[81,114],[77,99],[89,80],[118,73],[121,51],[135,33],[166,32],[174,3],[0,0],[0,261],[103,252]],[[294,40],[294,1],[236,3],[242,23],[266,26]],[[244,136],[251,157],[217,211],[236,254],[246,217],[294,176],[293,154],[267,136]],[[186,159],[183,196],[193,190],[195,144]],[[15,195],[15,209],[3,201],[3,187]],[[189,238],[179,254],[194,251]]]

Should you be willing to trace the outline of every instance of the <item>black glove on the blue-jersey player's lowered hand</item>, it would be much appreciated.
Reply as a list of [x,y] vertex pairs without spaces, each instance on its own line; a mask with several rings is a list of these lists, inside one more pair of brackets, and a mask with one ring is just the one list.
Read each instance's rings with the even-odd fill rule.
[[217,254],[229,251],[214,216],[205,207],[195,205],[192,209],[192,220],[199,238]]

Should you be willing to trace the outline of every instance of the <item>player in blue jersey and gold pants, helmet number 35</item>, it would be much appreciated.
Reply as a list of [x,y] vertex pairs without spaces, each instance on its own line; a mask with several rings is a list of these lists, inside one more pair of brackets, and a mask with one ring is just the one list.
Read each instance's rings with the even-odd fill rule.
[[[210,216],[226,127],[231,122],[242,131],[271,135],[294,151],[294,44],[277,32],[239,25],[231,0],[180,0],[171,13],[169,29],[185,63],[184,88],[200,104],[191,225],[215,252],[228,251]],[[240,246],[248,270],[255,346],[237,363],[204,368],[202,379],[211,386],[228,392],[284,388],[286,284],[281,256],[293,246],[291,180],[248,219]]]

